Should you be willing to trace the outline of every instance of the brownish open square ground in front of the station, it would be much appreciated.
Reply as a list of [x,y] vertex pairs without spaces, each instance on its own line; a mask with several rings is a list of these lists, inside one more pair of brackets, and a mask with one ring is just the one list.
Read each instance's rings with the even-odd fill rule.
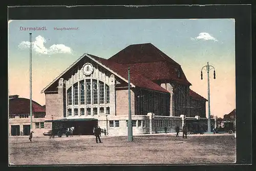
[[94,136],[10,137],[10,164],[193,164],[236,162],[236,139],[233,135],[174,135],[104,137]]

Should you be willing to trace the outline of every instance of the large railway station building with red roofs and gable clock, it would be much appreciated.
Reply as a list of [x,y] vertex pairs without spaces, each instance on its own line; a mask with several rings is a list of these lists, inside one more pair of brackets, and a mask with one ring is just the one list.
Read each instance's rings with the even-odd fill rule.
[[137,44],[109,59],[83,54],[49,83],[41,91],[46,129],[75,126],[74,135],[91,135],[98,125],[109,135],[127,135],[129,67],[135,135],[162,132],[164,126],[173,132],[186,119],[207,124],[207,100],[189,89],[179,63],[152,44]]

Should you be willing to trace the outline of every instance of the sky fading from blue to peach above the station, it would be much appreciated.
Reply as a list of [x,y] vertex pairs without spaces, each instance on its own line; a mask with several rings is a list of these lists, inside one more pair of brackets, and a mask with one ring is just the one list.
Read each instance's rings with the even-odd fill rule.
[[[29,52],[32,33],[32,99],[45,104],[40,93],[82,54],[110,58],[132,44],[151,43],[178,62],[192,84],[207,97],[207,62],[210,113],[223,117],[236,108],[234,19],[84,19],[9,20],[8,93],[30,98]],[[26,28],[33,27],[32,31]],[[40,28],[40,30],[39,30]],[[62,28],[62,30],[61,30]],[[63,30],[73,28],[73,30]],[[208,114],[206,103],[206,114]]]

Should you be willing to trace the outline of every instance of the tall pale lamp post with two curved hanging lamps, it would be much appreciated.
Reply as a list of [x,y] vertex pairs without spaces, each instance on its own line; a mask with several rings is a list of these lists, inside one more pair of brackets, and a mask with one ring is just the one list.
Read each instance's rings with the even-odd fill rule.
[[208,88],[208,133],[211,133],[211,123],[210,123],[210,80],[209,80],[209,71],[214,69],[214,79],[216,78],[215,75],[215,68],[214,66],[210,66],[209,62],[207,65],[201,69],[201,79],[203,79],[203,70],[207,72],[207,88]]

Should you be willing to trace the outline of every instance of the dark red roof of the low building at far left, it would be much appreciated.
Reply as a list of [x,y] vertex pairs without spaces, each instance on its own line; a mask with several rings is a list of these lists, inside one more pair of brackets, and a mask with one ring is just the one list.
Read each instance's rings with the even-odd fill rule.
[[[32,100],[32,112],[45,113],[46,109],[40,104]],[[9,114],[29,114],[30,113],[30,99],[27,98],[13,98],[9,99]]]

